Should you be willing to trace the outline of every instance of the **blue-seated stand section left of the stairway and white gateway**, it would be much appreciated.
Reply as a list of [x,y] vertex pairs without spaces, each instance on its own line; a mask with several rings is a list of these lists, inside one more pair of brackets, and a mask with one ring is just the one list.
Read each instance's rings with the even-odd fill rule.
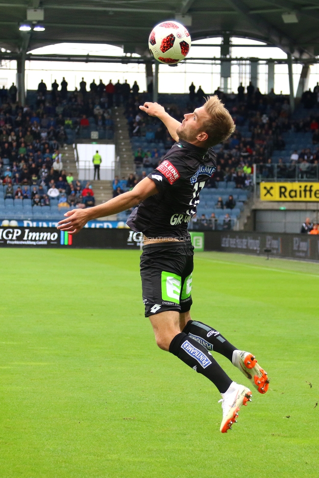
[[48,92],[41,81],[37,92],[28,92],[25,107],[1,90],[1,219],[57,221],[72,207],[95,204],[87,181],[73,180],[64,168],[62,147],[91,138],[92,131],[112,139],[114,122],[105,85],[89,92],[81,87]]

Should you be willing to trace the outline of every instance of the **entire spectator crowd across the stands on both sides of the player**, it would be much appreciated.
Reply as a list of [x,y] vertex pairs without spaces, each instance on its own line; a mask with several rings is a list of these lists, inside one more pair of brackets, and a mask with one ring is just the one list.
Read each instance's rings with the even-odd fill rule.
[[[79,89],[69,92],[67,87],[65,78],[60,85],[54,80],[50,90],[41,80],[33,104],[25,107],[16,100],[15,85],[8,91],[0,90],[0,177],[5,197],[31,198],[34,205],[48,205],[53,198],[57,198],[59,204],[94,205],[92,189],[75,182],[72,174],[66,173],[61,151],[70,131],[85,131],[92,121],[96,128],[112,131],[111,108],[114,106],[124,106],[135,174],[122,179],[116,177],[113,196],[132,189],[147,176],[174,143],[160,120],[139,109],[140,104],[152,100],[152,83],[147,92],[140,92],[136,81],[130,86],[126,80],[123,84],[93,80],[88,87],[82,78]],[[263,165],[265,177],[271,176],[271,155],[274,150],[286,147],[283,134],[288,131],[310,133],[312,143],[318,144],[316,151],[310,148],[294,151],[290,158],[292,171],[295,165],[300,171],[306,171],[309,165],[318,165],[319,115],[315,109],[319,104],[318,84],[313,92],[309,90],[301,98],[303,107],[309,110],[302,119],[292,117],[288,96],[275,95],[273,90],[262,95],[251,83],[246,91],[241,84],[237,94],[226,95],[219,88],[214,94],[225,103],[238,127],[229,140],[215,147],[217,170],[208,188],[216,188],[220,182],[233,182],[238,190],[249,188],[254,164]],[[189,96],[172,96],[170,102],[164,101],[164,106],[173,118],[181,121],[186,112],[202,105],[204,98],[202,88],[192,83]],[[282,165],[280,159],[276,168],[278,177],[281,168],[287,175],[287,166]],[[216,208],[231,210],[236,206],[232,195],[224,202],[220,196]]]

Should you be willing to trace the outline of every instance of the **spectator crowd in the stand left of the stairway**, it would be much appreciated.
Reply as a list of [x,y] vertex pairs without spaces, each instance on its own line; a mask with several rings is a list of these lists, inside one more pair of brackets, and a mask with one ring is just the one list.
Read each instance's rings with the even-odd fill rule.
[[68,132],[80,134],[92,121],[95,129],[113,131],[111,108],[128,102],[139,87],[135,82],[131,88],[126,80],[122,85],[93,80],[87,89],[84,78],[74,92],[67,87],[63,78],[61,85],[54,80],[48,91],[41,80],[24,107],[14,84],[0,90],[0,179],[6,198],[31,198],[34,205],[48,205],[53,197],[59,204],[94,204],[92,190],[70,181],[72,174],[64,168],[61,151]]

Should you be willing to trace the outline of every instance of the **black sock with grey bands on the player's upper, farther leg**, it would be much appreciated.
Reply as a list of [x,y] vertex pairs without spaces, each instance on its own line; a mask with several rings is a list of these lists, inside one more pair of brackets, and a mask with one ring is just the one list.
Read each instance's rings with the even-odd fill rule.
[[228,340],[225,339],[217,330],[212,329],[202,322],[189,320],[183,329],[183,332],[194,338],[208,350],[214,350],[218,354],[223,355],[232,362],[233,352],[237,350]]

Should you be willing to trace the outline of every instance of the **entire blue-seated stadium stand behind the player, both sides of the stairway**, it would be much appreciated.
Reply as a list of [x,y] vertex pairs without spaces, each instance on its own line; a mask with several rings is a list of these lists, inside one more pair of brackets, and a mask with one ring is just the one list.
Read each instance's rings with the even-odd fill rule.
[[[91,84],[86,91],[82,82],[80,90],[74,92],[62,88],[48,92],[41,84],[38,92],[28,92],[25,108],[11,103],[9,97],[1,97],[2,218],[58,220],[70,207],[94,205],[94,199],[82,197],[85,181],[68,182],[60,149],[78,139],[91,138],[92,131],[98,131],[99,138],[112,139],[114,107],[123,107],[127,119],[135,174],[121,180],[116,177],[113,195],[128,191],[147,176],[173,144],[161,121],[139,110],[138,105],[151,97],[140,93],[137,84],[134,90],[126,82],[118,85],[117,93],[110,92],[114,87],[111,83],[107,85],[109,92],[103,83],[99,89]],[[215,147],[217,171],[201,193],[190,228],[233,228],[250,195],[254,167],[257,181],[319,178],[318,91],[306,92],[293,115],[288,97],[273,92],[262,95],[256,89],[252,95],[240,97],[217,90],[215,94],[231,112],[236,131],[230,140]],[[182,120],[185,112],[203,103],[203,97],[159,95],[159,102],[174,118]],[[55,199],[48,192],[53,183],[58,190]],[[11,192],[10,188],[7,191],[9,185]],[[22,192],[16,196],[18,186]],[[40,188],[39,198],[32,195],[33,187]],[[230,195],[233,204],[226,208]],[[129,213],[120,213],[118,220],[126,220]]]

